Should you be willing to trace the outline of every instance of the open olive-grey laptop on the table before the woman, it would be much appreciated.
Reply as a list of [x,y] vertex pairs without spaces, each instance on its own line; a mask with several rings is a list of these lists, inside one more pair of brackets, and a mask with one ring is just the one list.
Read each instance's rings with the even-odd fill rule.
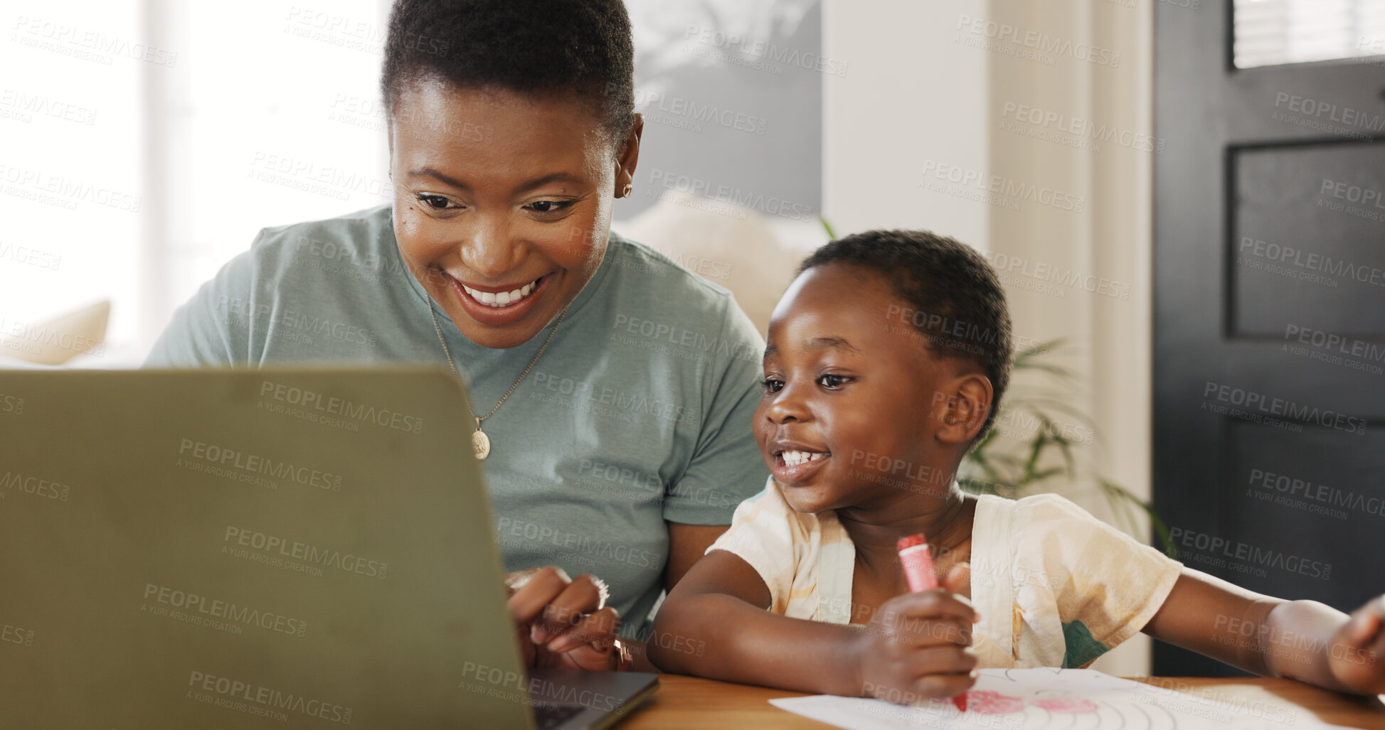
[[526,676],[461,384],[0,371],[0,726],[609,727]]

